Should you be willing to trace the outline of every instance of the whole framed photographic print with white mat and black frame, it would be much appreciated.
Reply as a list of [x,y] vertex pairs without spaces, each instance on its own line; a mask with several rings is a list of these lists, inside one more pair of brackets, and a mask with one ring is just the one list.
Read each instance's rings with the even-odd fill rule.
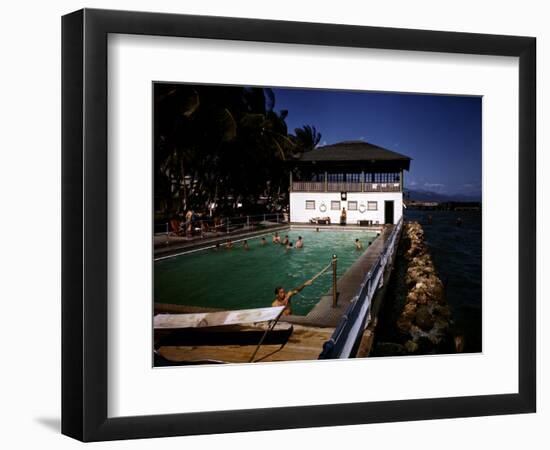
[[64,434],[535,411],[534,38],[62,26]]

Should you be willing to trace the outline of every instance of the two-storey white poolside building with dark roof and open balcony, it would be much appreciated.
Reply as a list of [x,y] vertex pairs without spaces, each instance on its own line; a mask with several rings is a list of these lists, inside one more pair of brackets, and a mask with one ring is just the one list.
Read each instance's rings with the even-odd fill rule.
[[396,223],[403,214],[403,171],[411,158],[363,141],[327,145],[292,161],[290,221]]

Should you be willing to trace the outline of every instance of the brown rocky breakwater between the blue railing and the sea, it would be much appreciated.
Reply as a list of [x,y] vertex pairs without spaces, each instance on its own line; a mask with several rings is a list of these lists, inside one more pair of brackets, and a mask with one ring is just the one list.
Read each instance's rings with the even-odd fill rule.
[[437,276],[420,224],[407,222],[403,232],[410,246],[405,251],[407,294],[397,329],[405,340],[407,353],[446,352],[450,343],[451,312],[443,283]]

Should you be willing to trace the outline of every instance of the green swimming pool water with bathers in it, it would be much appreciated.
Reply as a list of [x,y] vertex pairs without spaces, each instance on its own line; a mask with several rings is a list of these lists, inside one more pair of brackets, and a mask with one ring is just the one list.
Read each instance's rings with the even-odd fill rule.
[[[260,245],[260,238],[248,240],[250,250],[236,242],[232,250],[201,250],[163,259],[154,263],[155,302],[245,309],[271,306],[274,289],[292,289],[317,274],[338,256],[338,277],[364,251],[355,249],[355,239],[364,248],[376,234],[365,231],[282,231],[295,243],[302,236],[304,247],[285,251],[282,245]],[[332,271],[321,275],[292,299],[293,314],[305,315],[325,294],[332,283]]]

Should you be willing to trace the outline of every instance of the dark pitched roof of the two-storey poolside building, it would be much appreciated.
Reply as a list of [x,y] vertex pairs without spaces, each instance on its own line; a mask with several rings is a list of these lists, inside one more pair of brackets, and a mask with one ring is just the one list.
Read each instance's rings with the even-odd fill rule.
[[299,161],[339,161],[339,162],[368,162],[368,161],[396,161],[404,163],[409,168],[411,158],[401,153],[379,147],[364,141],[345,141],[337,144],[317,147],[302,154]]

